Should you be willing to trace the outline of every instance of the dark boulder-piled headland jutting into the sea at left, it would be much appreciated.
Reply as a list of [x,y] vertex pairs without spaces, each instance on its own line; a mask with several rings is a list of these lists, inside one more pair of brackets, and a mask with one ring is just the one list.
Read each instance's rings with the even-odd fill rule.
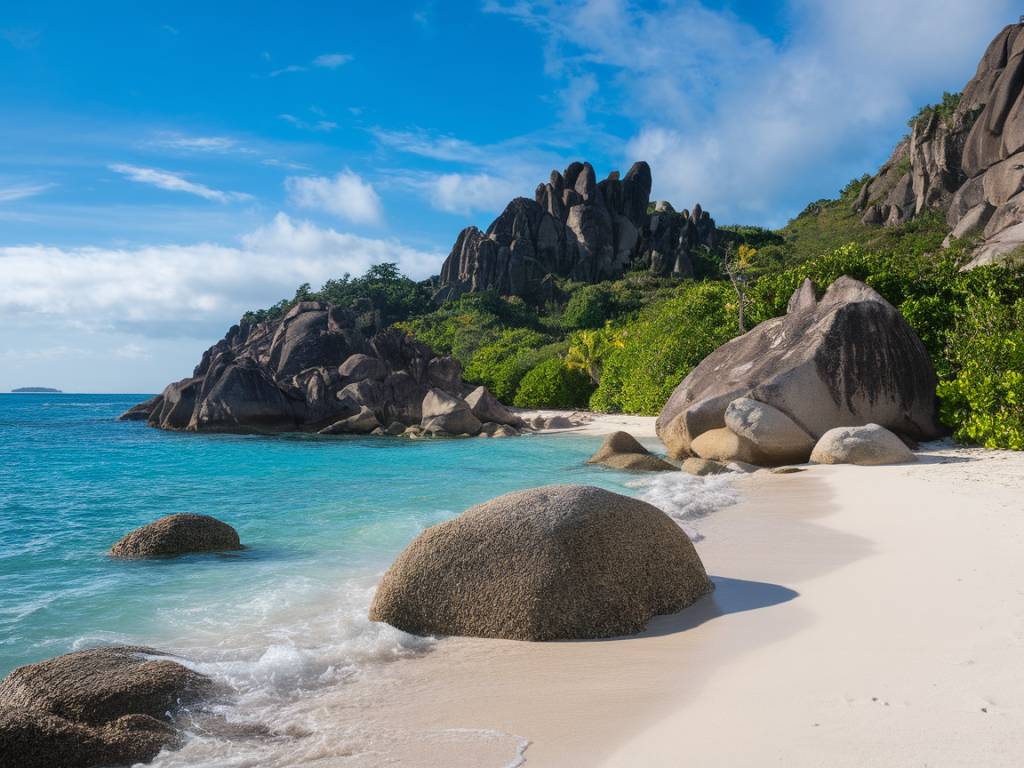
[[234,326],[190,377],[122,418],[193,432],[362,433],[419,424],[431,389],[462,395],[457,360],[394,329],[367,339],[356,321],[303,301],[280,319]]

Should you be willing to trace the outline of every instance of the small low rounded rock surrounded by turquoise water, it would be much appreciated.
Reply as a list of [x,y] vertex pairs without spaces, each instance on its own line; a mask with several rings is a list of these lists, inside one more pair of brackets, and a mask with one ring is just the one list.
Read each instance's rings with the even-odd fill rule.
[[209,515],[177,514],[126,534],[111,548],[111,556],[172,557],[239,549],[242,549],[239,534],[226,522]]

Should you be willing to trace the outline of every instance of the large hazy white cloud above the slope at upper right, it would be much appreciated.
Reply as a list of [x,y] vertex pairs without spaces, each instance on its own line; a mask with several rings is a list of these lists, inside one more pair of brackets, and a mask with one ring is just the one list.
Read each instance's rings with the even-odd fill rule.
[[656,196],[762,223],[873,170],[915,109],[963,87],[1017,19],[1009,0],[786,6],[780,41],[699,2],[486,7],[544,36],[568,115],[599,95],[636,121],[621,159],[651,163]]

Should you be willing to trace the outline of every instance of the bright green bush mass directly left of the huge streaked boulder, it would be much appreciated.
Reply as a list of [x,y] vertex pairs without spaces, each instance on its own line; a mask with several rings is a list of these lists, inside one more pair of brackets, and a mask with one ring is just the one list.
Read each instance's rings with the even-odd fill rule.
[[[735,295],[722,283],[690,283],[614,333],[590,404],[657,414],[700,360],[736,334]],[[571,348],[570,348],[571,354]]]

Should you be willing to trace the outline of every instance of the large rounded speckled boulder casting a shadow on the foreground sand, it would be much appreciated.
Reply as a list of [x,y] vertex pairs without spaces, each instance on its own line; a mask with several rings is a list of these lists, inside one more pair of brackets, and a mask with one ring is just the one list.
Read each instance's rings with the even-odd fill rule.
[[370,617],[417,635],[613,637],[711,589],[690,540],[657,508],[548,485],[427,528],[385,573]]

